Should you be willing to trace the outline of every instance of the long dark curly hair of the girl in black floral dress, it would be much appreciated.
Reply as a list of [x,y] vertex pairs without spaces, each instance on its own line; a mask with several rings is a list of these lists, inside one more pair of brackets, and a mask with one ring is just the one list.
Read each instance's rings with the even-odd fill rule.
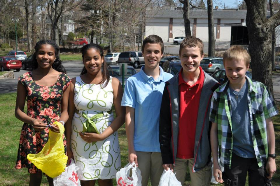
[[56,71],[59,71],[59,72],[66,73],[66,70],[65,70],[64,66],[62,65],[62,61],[59,59],[59,56],[58,56],[59,47],[52,40],[40,40],[36,43],[36,45],[34,47],[35,52],[34,52],[33,57],[32,57],[32,70],[38,68],[38,62],[37,62],[37,59],[36,59],[36,55],[37,55],[38,50],[40,49],[41,45],[46,45],[46,44],[52,45],[53,48],[55,49],[55,62],[53,63],[53,69],[55,69]]

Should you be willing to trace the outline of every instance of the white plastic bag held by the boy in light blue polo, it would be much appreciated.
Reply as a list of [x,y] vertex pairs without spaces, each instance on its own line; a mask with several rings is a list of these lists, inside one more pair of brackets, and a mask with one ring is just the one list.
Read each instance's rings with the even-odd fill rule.
[[128,163],[117,172],[116,180],[118,186],[141,186],[141,171],[134,162]]

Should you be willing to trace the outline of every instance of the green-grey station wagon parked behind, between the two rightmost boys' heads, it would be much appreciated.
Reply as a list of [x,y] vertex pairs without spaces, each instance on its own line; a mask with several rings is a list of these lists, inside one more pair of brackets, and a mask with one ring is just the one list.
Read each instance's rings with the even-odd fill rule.
[[216,71],[223,69],[223,58],[222,57],[204,57],[201,62],[200,66],[205,72],[208,73],[215,73]]

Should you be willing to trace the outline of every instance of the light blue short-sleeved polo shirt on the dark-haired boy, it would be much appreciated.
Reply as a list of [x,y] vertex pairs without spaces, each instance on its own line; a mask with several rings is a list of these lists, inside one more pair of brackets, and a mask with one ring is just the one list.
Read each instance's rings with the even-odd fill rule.
[[122,106],[135,109],[134,150],[160,152],[159,117],[162,93],[166,81],[173,77],[160,68],[160,76],[155,80],[141,71],[129,77],[125,83]]

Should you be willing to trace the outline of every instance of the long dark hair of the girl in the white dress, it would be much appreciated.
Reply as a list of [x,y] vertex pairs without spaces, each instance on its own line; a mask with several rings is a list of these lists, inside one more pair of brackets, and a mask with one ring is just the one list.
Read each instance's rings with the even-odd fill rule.
[[[98,84],[102,85],[103,83],[105,83],[104,87],[106,87],[109,83],[110,75],[109,75],[107,63],[105,62],[105,59],[104,59],[104,52],[103,52],[102,48],[95,43],[87,44],[87,45],[83,46],[82,49],[81,49],[83,60],[84,60],[84,56],[85,56],[86,52],[90,48],[93,48],[93,49],[97,50],[99,52],[101,58],[103,58],[103,63],[102,63],[102,66],[101,66],[102,79]],[[87,70],[85,69],[85,66],[84,66],[84,68],[81,72],[81,75],[83,75],[85,73],[87,73]]]

